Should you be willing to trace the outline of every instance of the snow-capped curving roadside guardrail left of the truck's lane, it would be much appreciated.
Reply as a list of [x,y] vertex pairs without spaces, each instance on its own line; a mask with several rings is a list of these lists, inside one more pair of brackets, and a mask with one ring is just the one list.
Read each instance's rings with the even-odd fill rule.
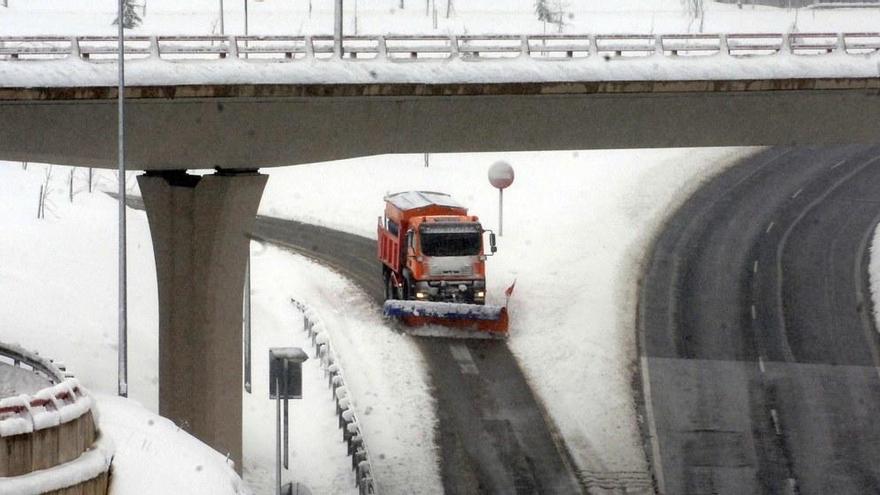
[[360,495],[375,495],[379,493],[379,488],[373,477],[367,446],[361,434],[360,422],[354,412],[354,404],[348,396],[342,368],[330,348],[330,338],[324,328],[324,323],[317,313],[306,304],[294,298],[291,298],[290,302],[303,315],[303,330],[308,333],[312,346],[318,353],[321,367],[324,368],[324,376],[327,377],[327,384],[332,390],[333,399],[336,402],[336,415],[339,417],[339,428],[342,430],[342,440],[348,446],[348,455],[351,457],[351,469],[355,473],[358,493]]

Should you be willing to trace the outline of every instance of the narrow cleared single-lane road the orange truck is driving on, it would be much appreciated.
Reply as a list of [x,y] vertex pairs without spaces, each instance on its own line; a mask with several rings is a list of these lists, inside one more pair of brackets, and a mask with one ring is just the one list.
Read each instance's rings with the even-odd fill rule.
[[[317,259],[383,302],[376,241],[260,216],[253,237]],[[417,338],[435,389],[445,492],[573,494],[568,455],[502,341]]]

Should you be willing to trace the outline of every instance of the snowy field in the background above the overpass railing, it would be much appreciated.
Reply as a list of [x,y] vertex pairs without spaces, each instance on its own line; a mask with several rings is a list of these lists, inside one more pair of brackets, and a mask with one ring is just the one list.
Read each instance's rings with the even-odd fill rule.
[[[139,2],[144,3],[144,2]],[[149,0],[136,34],[219,34],[218,0]],[[447,2],[437,1],[437,28],[424,1],[346,0],[347,34],[416,33],[554,33],[535,15],[534,0],[456,0],[446,17]],[[700,21],[687,13],[681,0],[568,0],[563,5],[565,33],[680,33],[696,32]],[[226,34],[244,33],[244,2],[224,2]],[[329,34],[332,0],[250,0],[250,34]],[[309,14],[309,5],[312,12]],[[9,0],[0,7],[0,35],[115,34],[115,2],[91,0]],[[355,10],[357,16],[355,16]],[[139,9],[140,11],[140,9]],[[880,9],[788,10],[705,2],[703,32],[836,32],[876,31]],[[355,20],[356,19],[356,20]],[[356,26],[355,26],[356,25]]]

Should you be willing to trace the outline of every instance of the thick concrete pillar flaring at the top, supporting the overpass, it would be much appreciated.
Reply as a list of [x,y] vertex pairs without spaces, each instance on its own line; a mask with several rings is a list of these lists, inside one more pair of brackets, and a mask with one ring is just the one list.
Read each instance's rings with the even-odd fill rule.
[[267,176],[138,177],[159,286],[159,414],[241,472],[242,291]]

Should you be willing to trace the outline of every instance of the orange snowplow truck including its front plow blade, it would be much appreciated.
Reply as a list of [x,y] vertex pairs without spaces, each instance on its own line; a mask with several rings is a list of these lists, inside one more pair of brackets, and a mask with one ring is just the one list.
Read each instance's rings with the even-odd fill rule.
[[409,326],[507,332],[507,308],[485,304],[486,257],[497,250],[495,234],[467,208],[443,193],[391,194],[377,238],[386,316]]

